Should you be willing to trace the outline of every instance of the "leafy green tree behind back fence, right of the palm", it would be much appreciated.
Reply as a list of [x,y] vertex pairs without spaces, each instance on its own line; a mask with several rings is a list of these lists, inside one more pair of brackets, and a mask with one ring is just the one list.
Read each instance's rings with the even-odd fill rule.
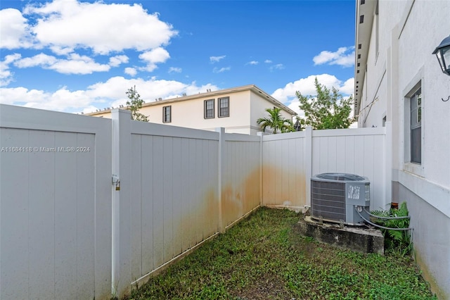
[[302,127],[311,126],[314,129],[338,129],[348,128],[354,119],[350,118],[352,112],[353,96],[345,99],[338,89],[330,90],[321,85],[319,80],[316,85],[316,97],[303,96],[296,92],[300,101],[300,109],[304,111],[304,118],[300,119]]

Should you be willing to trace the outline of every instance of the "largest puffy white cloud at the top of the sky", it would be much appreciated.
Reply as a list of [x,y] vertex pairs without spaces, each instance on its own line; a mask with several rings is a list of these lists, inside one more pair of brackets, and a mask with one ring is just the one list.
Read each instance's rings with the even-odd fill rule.
[[[56,54],[77,47],[104,55],[124,49],[146,51],[168,44],[177,35],[172,25],[159,20],[158,13],[148,14],[139,4],[54,0],[26,6],[24,13],[37,16],[31,30],[40,44]],[[21,24],[18,16],[15,20]],[[8,35],[14,36],[17,33]]]

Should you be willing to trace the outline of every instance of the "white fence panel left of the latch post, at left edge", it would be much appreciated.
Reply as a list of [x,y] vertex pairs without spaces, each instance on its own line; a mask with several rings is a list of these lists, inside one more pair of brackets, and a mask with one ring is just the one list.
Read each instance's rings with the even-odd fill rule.
[[0,298],[110,299],[110,120],[0,117]]

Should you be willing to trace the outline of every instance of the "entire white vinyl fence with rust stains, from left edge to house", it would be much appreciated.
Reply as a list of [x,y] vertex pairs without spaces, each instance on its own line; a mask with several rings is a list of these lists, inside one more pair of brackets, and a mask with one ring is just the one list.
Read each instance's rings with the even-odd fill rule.
[[311,175],[390,191],[385,129],[250,136],[0,104],[0,299],[110,299]]

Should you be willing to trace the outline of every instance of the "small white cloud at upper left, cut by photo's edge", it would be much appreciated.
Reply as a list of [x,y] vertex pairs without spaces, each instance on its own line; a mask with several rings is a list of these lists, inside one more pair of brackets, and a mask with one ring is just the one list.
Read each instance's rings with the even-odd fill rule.
[[27,19],[14,8],[0,10],[0,48],[18,49],[32,45]]

